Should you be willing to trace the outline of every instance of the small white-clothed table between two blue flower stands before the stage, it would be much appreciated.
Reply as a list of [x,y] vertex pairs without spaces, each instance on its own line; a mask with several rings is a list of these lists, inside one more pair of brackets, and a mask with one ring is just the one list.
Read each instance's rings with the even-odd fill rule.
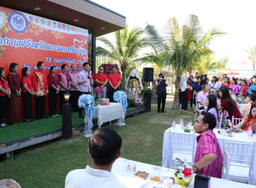
[[98,127],[102,126],[105,122],[111,122],[112,120],[125,119],[123,113],[122,103],[109,103],[109,105],[98,105],[95,107],[93,118],[98,118]]

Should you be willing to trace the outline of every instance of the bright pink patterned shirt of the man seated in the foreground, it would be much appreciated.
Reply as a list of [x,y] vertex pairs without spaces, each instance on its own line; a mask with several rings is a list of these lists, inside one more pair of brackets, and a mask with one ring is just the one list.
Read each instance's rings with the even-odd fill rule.
[[216,135],[212,130],[207,130],[197,136],[197,150],[194,162],[198,162],[205,154],[215,153],[217,158],[206,167],[197,171],[198,174],[222,178],[222,149]]

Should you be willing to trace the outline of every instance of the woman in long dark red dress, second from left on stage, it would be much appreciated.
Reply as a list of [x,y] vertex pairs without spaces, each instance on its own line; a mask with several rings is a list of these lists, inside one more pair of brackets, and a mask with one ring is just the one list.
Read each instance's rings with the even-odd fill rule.
[[16,74],[18,71],[18,64],[12,62],[9,66],[9,74],[7,75],[7,81],[9,83],[9,87],[11,88],[11,98],[9,99],[7,107],[7,119],[9,124],[15,125],[20,124],[22,112],[20,99],[22,89],[20,87],[20,77]]

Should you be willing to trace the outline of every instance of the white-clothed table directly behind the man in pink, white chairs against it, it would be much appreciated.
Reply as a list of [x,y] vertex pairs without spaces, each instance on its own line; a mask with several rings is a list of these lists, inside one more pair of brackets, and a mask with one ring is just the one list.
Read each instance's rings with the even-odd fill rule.
[[[190,133],[184,132],[184,130],[181,129],[173,129],[173,128],[168,128],[164,132],[164,139],[163,139],[163,146],[162,146],[162,167],[170,167],[170,132],[174,133],[181,133],[181,134],[193,134],[193,131]],[[216,134],[216,137],[218,138],[218,141],[220,143],[220,147],[222,148],[223,146],[223,139],[227,141],[232,141],[232,142],[238,142],[238,143],[252,143],[256,142],[256,134],[253,135],[253,138],[249,139],[247,136],[247,132],[242,132],[242,133],[233,133],[233,137],[229,136],[222,136],[221,134],[218,133],[218,130],[220,129],[214,129],[214,133]],[[221,130],[220,130],[221,131]],[[222,130],[224,131],[224,130]],[[195,151],[197,147],[197,141],[196,137],[199,134],[195,134]],[[222,148],[223,149],[223,148]],[[222,151],[223,154],[223,151]],[[243,160],[243,158],[240,158]],[[253,164],[252,164],[252,176],[251,176],[251,183],[252,185],[256,185],[256,150],[254,151],[253,154]]]

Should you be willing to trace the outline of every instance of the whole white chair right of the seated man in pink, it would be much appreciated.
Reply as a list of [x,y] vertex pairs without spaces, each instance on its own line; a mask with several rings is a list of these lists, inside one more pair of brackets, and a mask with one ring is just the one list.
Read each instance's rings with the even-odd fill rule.
[[226,179],[251,185],[255,142],[245,144],[223,140],[222,149],[224,148],[230,155],[230,167]]

